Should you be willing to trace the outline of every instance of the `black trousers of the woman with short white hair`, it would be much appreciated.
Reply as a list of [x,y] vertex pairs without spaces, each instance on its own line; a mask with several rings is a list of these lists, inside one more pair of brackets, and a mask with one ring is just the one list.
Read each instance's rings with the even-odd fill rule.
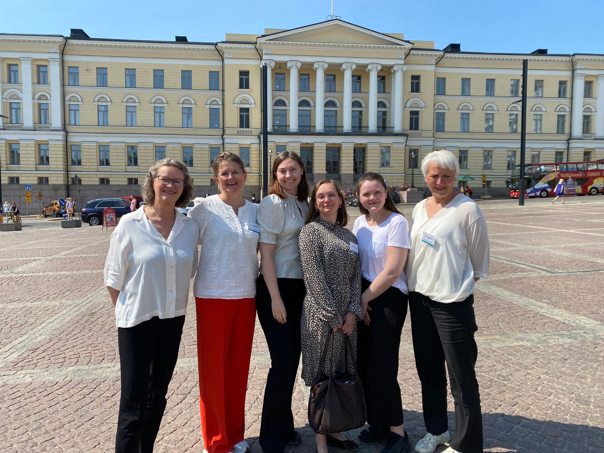
[[463,453],[482,453],[483,420],[474,370],[478,357],[474,295],[443,304],[411,292],[409,306],[426,429],[434,435],[449,429],[446,362],[455,400],[455,435],[449,445]]

